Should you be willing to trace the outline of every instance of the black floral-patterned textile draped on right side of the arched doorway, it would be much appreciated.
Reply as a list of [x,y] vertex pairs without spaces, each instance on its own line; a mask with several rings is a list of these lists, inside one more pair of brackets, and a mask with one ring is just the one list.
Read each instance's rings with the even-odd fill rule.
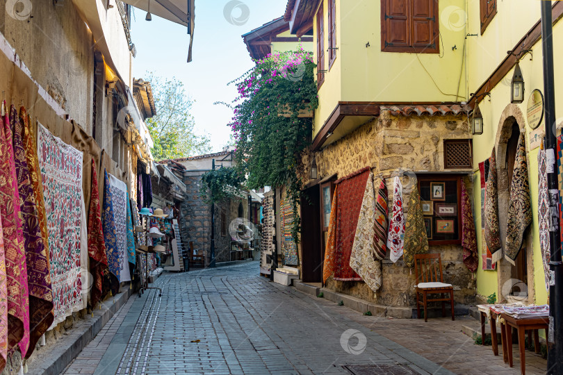
[[530,205],[530,185],[528,184],[528,163],[526,162],[526,146],[524,133],[520,134],[510,200],[508,203],[505,258],[512,265],[522,247],[524,232],[532,222],[532,206]]

